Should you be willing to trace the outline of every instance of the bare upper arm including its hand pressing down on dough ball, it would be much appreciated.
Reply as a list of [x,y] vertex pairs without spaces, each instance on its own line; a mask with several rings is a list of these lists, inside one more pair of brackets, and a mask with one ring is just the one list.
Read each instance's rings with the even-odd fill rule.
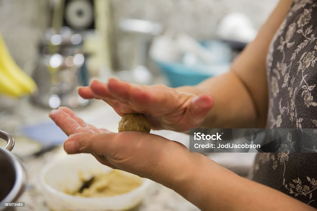
[[197,86],[177,89],[135,85],[116,79],[94,80],[78,93],[102,99],[123,116],[146,114],[153,129],[187,132],[190,128],[264,127],[268,109],[265,60],[268,46],[291,0],[281,0],[256,39],[235,59],[231,70]]

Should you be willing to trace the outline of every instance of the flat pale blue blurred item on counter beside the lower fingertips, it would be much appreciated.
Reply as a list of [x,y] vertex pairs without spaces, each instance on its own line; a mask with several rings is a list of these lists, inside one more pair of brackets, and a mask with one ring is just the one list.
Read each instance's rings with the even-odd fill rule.
[[67,135],[54,122],[39,123],[18,129],[26,137],[40,142],[44,147],[62,144]]

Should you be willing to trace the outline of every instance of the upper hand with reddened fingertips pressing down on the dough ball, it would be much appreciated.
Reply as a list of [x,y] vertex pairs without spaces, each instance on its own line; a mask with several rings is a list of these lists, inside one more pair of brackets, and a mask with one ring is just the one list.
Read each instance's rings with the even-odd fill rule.
[[78,93],[85,99],[102,99],[120,116],[145,114],[156,130],[186,132],[199,127],[214,104],[208,94],[196,96],[165,85],[133,85],[114,78],[108,83],[94,80],[89,87],[79,87]]

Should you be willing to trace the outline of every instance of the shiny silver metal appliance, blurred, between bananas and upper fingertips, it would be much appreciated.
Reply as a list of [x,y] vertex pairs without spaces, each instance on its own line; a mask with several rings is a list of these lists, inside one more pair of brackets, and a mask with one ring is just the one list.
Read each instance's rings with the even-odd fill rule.
[[76,108],[88,104],[77,93],[78,86],[88,85],[88,71],[82,47],[82,36],[70,28],[60,34],[49,30],[40,42],[39,58],[32,74],[38,90],[32,101],[48,108]]

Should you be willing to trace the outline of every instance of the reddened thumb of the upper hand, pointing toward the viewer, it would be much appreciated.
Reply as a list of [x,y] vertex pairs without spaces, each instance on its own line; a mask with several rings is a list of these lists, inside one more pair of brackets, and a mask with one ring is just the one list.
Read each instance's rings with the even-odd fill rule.
[[210,109],[214,106],[215,99],[211,95],[199,95],[191,99],[186,115],[192,125],[200,125]]

